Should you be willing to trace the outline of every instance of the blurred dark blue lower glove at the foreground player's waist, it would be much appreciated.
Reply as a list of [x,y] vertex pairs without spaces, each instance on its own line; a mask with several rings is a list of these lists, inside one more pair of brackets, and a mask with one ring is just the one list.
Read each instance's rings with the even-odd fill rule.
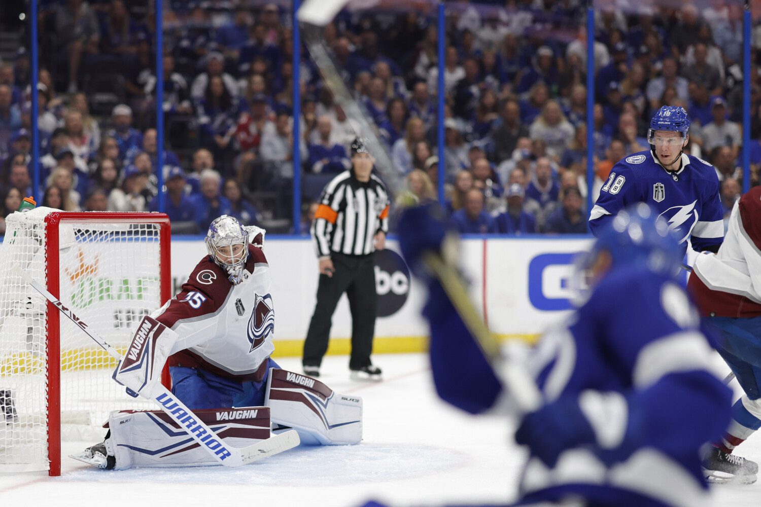
[[532,455],[548,467],[555,467],[560,453],[595,442],[595,435],[578,398],[564,395],[527,414],[515,432],[515,442],[528,445]]

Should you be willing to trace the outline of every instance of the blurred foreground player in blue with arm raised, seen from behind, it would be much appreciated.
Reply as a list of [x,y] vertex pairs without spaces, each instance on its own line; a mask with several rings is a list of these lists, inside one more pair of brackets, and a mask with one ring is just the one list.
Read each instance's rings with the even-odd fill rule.
[[[399,234],[410,267],[424,273],[422,254],[441,250],[444,227],[416,208]],[[668,224],[646,204],[600,230],[581,271],[591,287],[585,303],[521,360],[543,395],[530,414],[517,413],[504,376],[428,280],[423,315],[438,394],[471,414],[521,419],[515,439],[530,458],[515,505],[709,505],[699,448],[728,423],[731,393],[708,372],[712,348],[670,276],[680,258]]]

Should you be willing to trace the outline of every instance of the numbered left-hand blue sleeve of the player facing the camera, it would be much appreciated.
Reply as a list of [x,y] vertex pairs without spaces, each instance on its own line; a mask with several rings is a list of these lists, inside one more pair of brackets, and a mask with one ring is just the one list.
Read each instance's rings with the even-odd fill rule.
[[589,228],[592,234],[597,235],[597,231],[608,221],[613,220],[619,211],[629,204],[644,201],[644,198],[638,178],[629,166],[623,160],[616,163],[610,170],[610,176],[605,180],[603,188],[600,189],[600,197],[594,203],[589,216]]

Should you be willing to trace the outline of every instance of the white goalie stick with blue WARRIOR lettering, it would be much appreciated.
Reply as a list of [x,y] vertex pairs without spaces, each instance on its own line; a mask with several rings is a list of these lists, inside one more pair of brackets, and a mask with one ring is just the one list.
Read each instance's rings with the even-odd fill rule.
[[[119,352],[111,347],[102,337],[100,337],[95,331],[93,331],[85,322],[74,315],[72,310],[63,306],[61,301],[49,293],[45,287],[38,284],[33,280],[30,275],[21,268],[21,265],[14,265],[11,269],[14,274],[18,274],[22,280],[30,284],[34,290],[37,290],[40,294],[45,296],[50,303],[58,308],[63,315],[66,315],[69,320],[74,322],[78,327],[84,331],[89,337],[95,341],[103,350],[106,350],[115,360],[121,361],[122,356]],[[129,390],[128,390],[129,392]],[[133,393],[129,393],[134,395]],[[156,382],[151,389],[149,399],[153,400],[164,410],[174,422],[180,425],[180,428],[186,429],[186,433],[193,437],[196,442],[205,448],[206,451],[212,455],[215,460],[225,467],[240,467],[241,465],[251,463],[253,461],[259,461],[260,459],[269,458],[269,456],[276,455],[279,452],[287,451],[290,448],[294,448],[301,443],[298,437],[298,433],[295,430],[290,430],[285,433],[280,433],[264,439],[256,444],[249,445],[244,448],[231,447],[224,443],[222,439],[215,439],[215,433],[209,426],[206,426],[198,417],[195,417],[193,412],[178,400],[177,397],[172,395],[170,391],[161,385],[160,382]]]

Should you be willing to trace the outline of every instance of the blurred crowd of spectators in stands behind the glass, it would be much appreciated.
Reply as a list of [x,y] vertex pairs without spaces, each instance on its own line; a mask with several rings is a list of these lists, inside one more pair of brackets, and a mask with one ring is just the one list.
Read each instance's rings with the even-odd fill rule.
[[[52,34],[37,84],[42,204],[155,211],[161,169],[173,223],[203,232],[219,214],[262,220],[268,210],[254,208],[252,192],[287,192],[287,201],[295,170],[330,175],[351,166],[355,125],[303,48],[301,116],[292,116],[295,48],[287,8],[245,0],[170,3],[161,107],[167,123],[192,119],[198,144],[165,151],[159,168],[150,8],[139,13],[126,0],[41,2],[40,24]],[[444,154],[434,13],[342,11],[323,37],[421,201],[438,199],[443,155],[447,213],[462,233],[587,232],[585,84],[593,68],[593,198],[618,160],[649,149],[654,111],[682,106],[692,120],[685,151],[715,166],[728,212],[742,185],[743,107],[753,118],[747,176],[758,184],[761,31],[753,35],[752,103],[743,104],[742,2],[638,2],[629,11],[609,3],[597,2],[588,65],[585,2],[447,5]],[[102,104],[86,92],[107,68],[119,69],[123,100],[96,114],[91,109]],[[30,93],[22,47],[13,62],[0,64],[3,216],[30,194]],[[303,209],[301,232],[314,205],[305,201]]]

